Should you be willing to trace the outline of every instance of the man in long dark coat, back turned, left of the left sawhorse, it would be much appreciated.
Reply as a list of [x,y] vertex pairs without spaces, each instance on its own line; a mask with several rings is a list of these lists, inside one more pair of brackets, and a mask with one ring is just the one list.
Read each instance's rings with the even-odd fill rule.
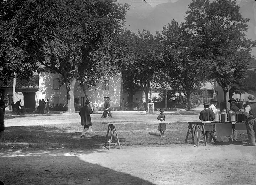
[[84,125],[84,130],[81,133],[81,136],[88,136],[88,129],[92,125],[90,114],[92,114],[93,111],[89,104],[89,100],[86,100],[85,106],[83,106],[79,112],[79,115],[81,116],[81,125]]

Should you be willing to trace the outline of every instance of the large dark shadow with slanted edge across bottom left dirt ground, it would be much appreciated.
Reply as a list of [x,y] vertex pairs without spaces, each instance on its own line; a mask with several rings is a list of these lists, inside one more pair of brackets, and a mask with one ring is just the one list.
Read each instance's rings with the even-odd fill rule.
[[12,185],[154,185],[147,180],[85,160],[77,156],[5,158],[0,180]]

